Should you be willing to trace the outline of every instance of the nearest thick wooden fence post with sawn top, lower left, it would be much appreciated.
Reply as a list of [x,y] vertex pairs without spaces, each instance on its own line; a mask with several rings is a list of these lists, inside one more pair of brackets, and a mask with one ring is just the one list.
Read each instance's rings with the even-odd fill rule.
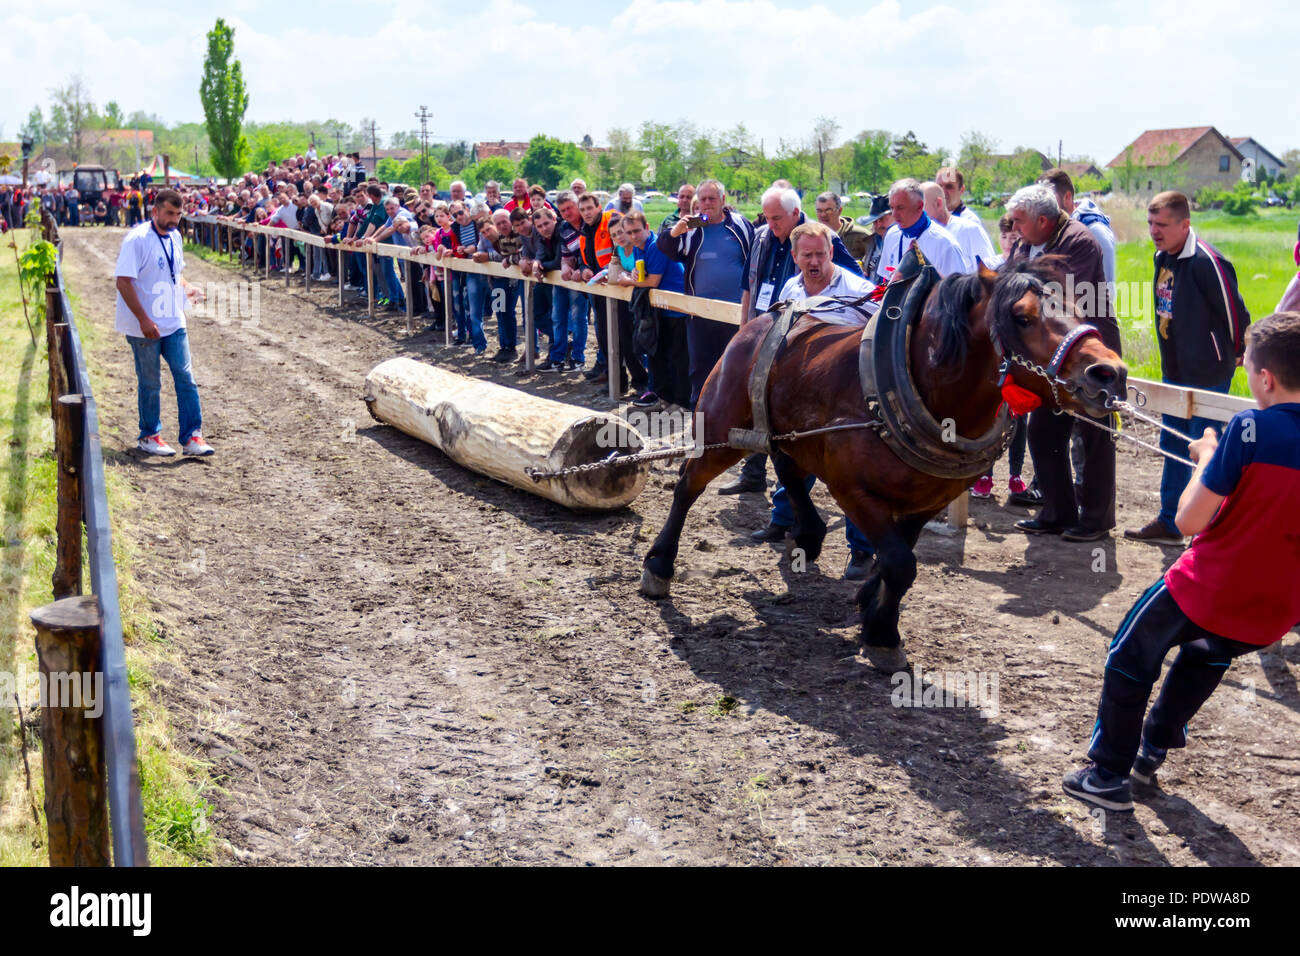
[[[40,744],[51,866],[108,866],[104,679],[99,600],[65,597],[31,613],[46,698]],[[75,702],[75,706],[73,704]]]

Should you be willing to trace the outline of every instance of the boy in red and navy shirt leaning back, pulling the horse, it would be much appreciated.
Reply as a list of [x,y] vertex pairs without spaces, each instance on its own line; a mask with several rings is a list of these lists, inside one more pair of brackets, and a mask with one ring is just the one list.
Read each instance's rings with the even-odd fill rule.
[[[1191,444],[1192,480],[1178,529],[1196,535],[1138,598],[1106,656],[1092,761],[1062,787],[1108,810],[1132,810],[1130,777],[1152,786],[1171,747],[1218,687],[1232,658],[1282,639],[1300,620],[1300,312],[1251,326],[1245,371],[1257,410],[1216,440]],[[1147,721],[1165,656],[1179,648]]]

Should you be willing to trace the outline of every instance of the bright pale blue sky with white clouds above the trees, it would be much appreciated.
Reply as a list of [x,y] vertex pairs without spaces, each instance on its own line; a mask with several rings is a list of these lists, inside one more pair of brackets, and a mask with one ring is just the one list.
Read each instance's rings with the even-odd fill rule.
[[549,133],[601,143],[611,127],[684,117],[715,129],[744,122],[771,151],[827,114],[845,138],[913,129],[956,151],[980,130],[1002,150],[1054,155],[1063,140],[1066,155],[1100,163],[1148,127],[1214,125],[1277,153],[1300,146],[1277,69],[1295,55],[1300,14],[1273,3],[235,0],[173,9],[143,27],[103,3],[47,0],[8,14],[17,85],[0,107],[4,137],[74,72],[100,105],[202,120],[204,33],[222,16],[235,26],[257,121],[373,116],[384,135],[415,127],[426,103],[439,139]]

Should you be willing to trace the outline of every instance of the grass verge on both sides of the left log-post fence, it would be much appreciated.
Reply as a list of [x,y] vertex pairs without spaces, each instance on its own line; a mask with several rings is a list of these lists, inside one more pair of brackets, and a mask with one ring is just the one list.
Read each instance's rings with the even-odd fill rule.
[[[10,234],[12,235],[12,234]],[[8,237],[6,237],[8,238]],[[18,233],[18,248],[26,233]],[[8,243],[5,243],[8,245]],[[3,250],[12,260],[13,251]],[[69,277],[75,284],[75,277]],[[43,303],[42,303],[43,304]],[[73,311],[77,311],[73,297]],[[34,675],[38,671],[34,632],[29,611],[48,604],[55,567],[56,462],[49,419],[48,362],[44,316],[29,303],[36,345],[23,323],[17,267],[0,265],[0,431],[6,445],[0,455],[0,488],[4,501],[4,540],[0,551],[0,671]],[[92,380],[95,330],[78,323],[88,354]],[[107,346],[105,346],[107,347]],[[160,636],[146,597],[130,576],[131,549],[118,515],[127,509],[125,484],[108,475],[113,550],[121,589],[122,619],[127,643],[127,676],[135,710],[136,756],[150,857],[156,865],[205,862],[211,856],[211,831],[205,826],[204,767],[185,757],[170,739],[166,711],[152,692],[152,666],[170,650]],[[87,580],[88,585],[88,580]],[[26,683],[16,678],[20,687]],[[0,701],[0,866],[42,866],[44,847],[44,786],[42,778],[39,714],[27,709],[20,727],[13,700]],[[25,731],[25,732],[22,732]],[[31,770],[27,788],[26,766]],[[35,809],[36,819],[32,819]]]

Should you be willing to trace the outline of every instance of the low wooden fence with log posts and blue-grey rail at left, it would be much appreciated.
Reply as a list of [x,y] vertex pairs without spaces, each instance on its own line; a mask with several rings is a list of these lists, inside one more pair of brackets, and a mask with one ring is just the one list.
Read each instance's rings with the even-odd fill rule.
[[[58,463],[55,601],[34,610],[31,622],[47,688],[40,737],[49,864],[147,866],[99,408],[61,261],[46,289],[46,336]],[[83,524],[90,594],[82,591]],[[56,700],[56,688],[66,693],[70,682],[79,682],[81,695]]]

